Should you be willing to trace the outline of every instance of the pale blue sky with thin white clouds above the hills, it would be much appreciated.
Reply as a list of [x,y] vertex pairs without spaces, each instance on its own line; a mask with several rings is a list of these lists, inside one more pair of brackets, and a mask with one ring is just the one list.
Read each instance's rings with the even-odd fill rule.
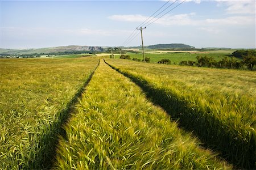
[[[123,42],[166,2],[0,0],[0,48],[138,46],[139,34]],[[255,0],[187,0],[143,30],[144,45],[256,48],[255,22]]]

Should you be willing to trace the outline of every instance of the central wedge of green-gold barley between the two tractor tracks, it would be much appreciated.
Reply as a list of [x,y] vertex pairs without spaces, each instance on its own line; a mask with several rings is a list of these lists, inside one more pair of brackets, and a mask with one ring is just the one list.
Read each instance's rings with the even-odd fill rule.
[[56,169],[229,169],[104,62],[64,127]]

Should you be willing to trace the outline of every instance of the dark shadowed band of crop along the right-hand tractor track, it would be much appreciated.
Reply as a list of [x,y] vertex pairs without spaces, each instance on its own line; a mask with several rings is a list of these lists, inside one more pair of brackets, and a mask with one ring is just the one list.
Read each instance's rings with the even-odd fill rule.
[[104,62],[141,87],[152,103],[162,107],[172,119],[178,120],[180,128],[192,131],[204,143],[204,147],[220,152],[222,159],[228,160],[238,169],[255,169],[254,133],[239,138],[237,131],[230,131],[220,119],[210,114],[213,112],[210,108],[201,109],[170,90],[154,87],[145,79],[121,71],[105,60]]

